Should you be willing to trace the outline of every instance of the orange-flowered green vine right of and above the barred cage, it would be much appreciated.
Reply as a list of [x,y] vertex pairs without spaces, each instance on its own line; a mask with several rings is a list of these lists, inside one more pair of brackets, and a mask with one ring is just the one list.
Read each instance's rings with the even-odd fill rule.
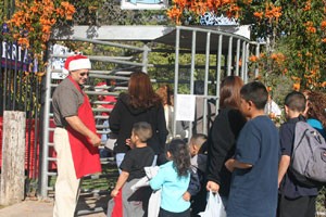
[[267,43],[260,56],[249,56],[252,75],[288,76],[293,89],[326,88],[326,0],[173,0],[167,16],[199,24],[205,12],[251,25],[251,39]]

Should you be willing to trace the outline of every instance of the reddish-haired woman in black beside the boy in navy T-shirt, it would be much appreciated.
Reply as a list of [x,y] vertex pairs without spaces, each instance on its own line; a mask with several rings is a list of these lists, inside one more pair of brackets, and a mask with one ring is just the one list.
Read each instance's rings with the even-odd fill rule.
[[236,140],[246,124],[240,113],[240,89],[243,81],[228,76],[221,84],[220,111],[209,132],[208,140],[208,191],[218,192],[226,206],[231,174],[225,162],[235,154]]

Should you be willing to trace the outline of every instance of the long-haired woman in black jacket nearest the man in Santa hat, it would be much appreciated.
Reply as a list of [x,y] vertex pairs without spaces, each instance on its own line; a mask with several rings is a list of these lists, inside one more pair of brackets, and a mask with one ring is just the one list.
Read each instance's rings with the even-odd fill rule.
[[153,129],[148,145],[156,155],[164,152],[167,130],[161,98],[154,92],[146,73],[135,72],[130,75],[128,92],[121,93],[109,117],[110,129],[117,136],[114,153],[117,167],[125,153],[130,149],[126,140],[130,138],[135,123],[147,122]]

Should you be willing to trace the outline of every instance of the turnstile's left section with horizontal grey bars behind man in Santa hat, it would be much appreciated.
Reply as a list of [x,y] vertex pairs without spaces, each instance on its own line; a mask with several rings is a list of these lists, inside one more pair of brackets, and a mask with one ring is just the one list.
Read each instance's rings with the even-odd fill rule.
[[[146,46],[143,48],[127,46],[122,43],[105,42],[99,40],[82,39],[74,38],[74,40],[90,42],[92,44],[101,44],[105,47],[112,47],[122,49],[125,53],[136,53],[134,56],[95,56],[89,55],[88,58],[92,62],[92,69],[89,72],[89,85],[85,86],[85,92],[90,99],[96,98],[97,95],[115,95],[117,97],[117,91],[127,89],[127,81],[129,79],[129,74],[135,69],[141,69],[147,72],[148,67],[148,52],[150,51]],[[126,52],[126,50],[128,52]],[[65,60],[67,55],[50,55],[49,65],[47,69],[46,77],[46,97],[45,97],[45,106],[43,106],[43,119],[42,119],[42,157],[41,157],[41,170],[40,170],[40,181],[39,181],[39,195],[42,197],[49,196],[49,191],[53,191],[53,184],[51,180],[57,176],[55,171],[55,155],[53,150],[53,113],[51,111],[51,95],[58,86],[58,82],[65,77],[62,74],[62,69],[54,69],[54,62],[58,59]],[[105,63],[105,69],[97,69],[97,64]],[[110,86],[105,85],[101,87],[101,90],[98,91],[96,82],[99,80],[114,79],[116,82],[122,84],[121,86]],[[103,90],[111,89],[112,91],[106,92]],[[100,104],[98,100],[91,100],[92,105]],[[108,108],[93,108],[95,118],[101,120],[108,118],[101,114],[102,112],[110,112]],[[98,133],[106,133],[105,126],[97,125]]]

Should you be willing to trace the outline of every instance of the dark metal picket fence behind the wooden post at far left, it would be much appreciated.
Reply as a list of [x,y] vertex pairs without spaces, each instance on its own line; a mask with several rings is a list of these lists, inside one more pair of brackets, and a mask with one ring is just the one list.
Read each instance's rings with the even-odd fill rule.
[[[26,113],[26,152],[25,174],[26,193],[29,193],[30,180],[37,179],[39,165],[39,108],[41,78],[37,68],[30,67],[33,56],[15,41],[0,36],[0,162],[2,152],[2,115],[4,111]],[[0,163],[1,166],[1,163]],[[34,184],[34,183],[33,183]],[[35,190],[35,189],[33,189]]]

